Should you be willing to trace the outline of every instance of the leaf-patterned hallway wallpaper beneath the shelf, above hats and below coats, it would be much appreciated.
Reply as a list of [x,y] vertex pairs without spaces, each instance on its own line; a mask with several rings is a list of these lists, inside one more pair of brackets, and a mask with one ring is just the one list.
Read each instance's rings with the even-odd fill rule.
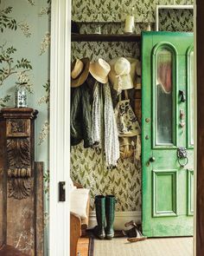
[[[116,56],[138,57],[140,51],[137,43],[72,43],[72,59],[84,56],[92,61],[102,57],[108,62]],[[92,210],[96,194],[114,194],[117,211],[140,211],[141,163],[120,160],[117,168],[107,170],[103,154],[82,144],[72,147],[71,178],[91,189]]]

